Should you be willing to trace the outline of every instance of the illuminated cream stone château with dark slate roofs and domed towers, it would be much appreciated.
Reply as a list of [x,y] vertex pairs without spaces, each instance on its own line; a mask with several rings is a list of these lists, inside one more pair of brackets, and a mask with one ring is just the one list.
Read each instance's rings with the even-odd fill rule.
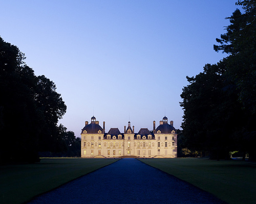
[[105,122],[102,128],[93,116],[81,132],[81,158],[176,158],[177,131],[173,121],[168,124],[167,120],[164,116],[157,129],[153,121],[153,132],[141,128],[134,133],[134,126],[132,128],[129,121],[127,129],[124,126],[124,133],[118,128],[105,133]]

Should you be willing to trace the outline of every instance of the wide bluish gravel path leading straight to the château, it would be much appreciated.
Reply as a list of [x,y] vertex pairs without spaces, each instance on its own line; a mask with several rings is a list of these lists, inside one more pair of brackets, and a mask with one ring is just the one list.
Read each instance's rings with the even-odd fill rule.
[[136,159],[121,159],[36,197],[40,203],[225,203]]

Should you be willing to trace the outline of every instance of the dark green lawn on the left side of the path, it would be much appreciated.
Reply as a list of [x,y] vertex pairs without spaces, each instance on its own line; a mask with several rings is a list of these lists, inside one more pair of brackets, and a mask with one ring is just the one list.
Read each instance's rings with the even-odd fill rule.
[[36,164],[0,166],[0,203],[23,203],[109,165],[114,159],[41,159]]

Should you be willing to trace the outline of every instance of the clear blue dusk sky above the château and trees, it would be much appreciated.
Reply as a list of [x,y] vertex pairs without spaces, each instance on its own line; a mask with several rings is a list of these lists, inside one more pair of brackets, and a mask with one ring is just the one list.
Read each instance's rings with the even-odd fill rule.
[[[182,88],[225,54],[213,45],[236,8],[232,0],[0,2],[0,36],[57,86],[59,121],[80,137],[84,121],[106,131],[153,130],[166,115],[180,129]],[[15,120],[13,121],[15,123]]]

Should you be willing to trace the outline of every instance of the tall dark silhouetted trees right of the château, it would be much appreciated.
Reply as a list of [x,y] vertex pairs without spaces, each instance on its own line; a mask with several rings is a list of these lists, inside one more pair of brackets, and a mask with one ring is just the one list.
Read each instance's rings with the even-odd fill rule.
[[219,63],[206,64],[196,77],[187,77],[180,103],[183,134],[191,150],[208,151],[211,159],[227,159],[240,150],[256,159],[256,43],[255,1],[239,1],[240,10],[227,17],[226,33],[216,39],[216,52],[229,54]]

